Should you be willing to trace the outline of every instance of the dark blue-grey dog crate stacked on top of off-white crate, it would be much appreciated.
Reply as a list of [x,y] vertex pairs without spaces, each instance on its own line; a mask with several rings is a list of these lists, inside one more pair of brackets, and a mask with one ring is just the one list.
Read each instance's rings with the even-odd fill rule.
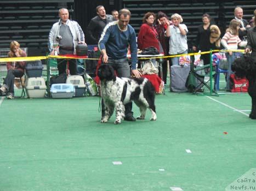
[[41,77],[43,65],[41,61],[27,61],[26,62],[27,77]]

